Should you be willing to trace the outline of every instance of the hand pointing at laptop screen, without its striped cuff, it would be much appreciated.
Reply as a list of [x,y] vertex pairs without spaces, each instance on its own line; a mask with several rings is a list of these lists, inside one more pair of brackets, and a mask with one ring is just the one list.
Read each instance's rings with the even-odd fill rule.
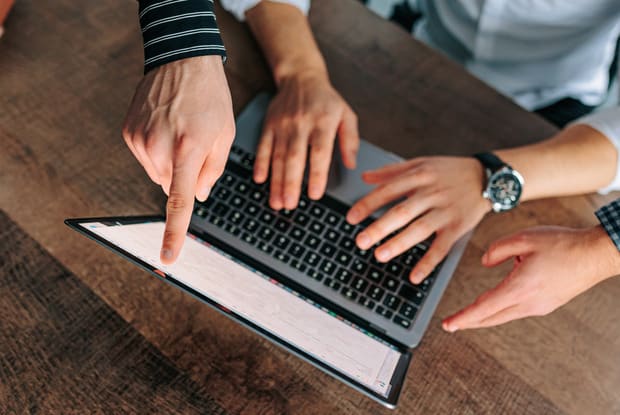
[[127,146],[168,195],[161,260],[176,260],[194,196],[204,201],[224,171],[235,135],[219,56],[183,59],[147,73],[123,126]]

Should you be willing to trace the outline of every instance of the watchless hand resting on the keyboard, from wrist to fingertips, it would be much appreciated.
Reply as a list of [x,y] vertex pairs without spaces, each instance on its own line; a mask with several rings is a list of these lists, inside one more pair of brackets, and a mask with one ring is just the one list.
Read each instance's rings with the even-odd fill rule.
[[254,163],[254,180],[267,180],[275,210],[297,207],[310,147],[308,196],[320,199],[338,135],[342,161],[355,168],[359,148],[357,117],[329,83],[326,74],[301,73],[280,82],[265,120]]

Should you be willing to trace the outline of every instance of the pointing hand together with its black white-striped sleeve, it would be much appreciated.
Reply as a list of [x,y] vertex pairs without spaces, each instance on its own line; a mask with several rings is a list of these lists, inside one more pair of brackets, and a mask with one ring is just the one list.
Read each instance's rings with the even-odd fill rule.
[[179,255],[194,196],[205,200],[234,137],[225,50],[211,0],[141,0],[145,75],[123,125],[127,146],[168,195],[161,260]]

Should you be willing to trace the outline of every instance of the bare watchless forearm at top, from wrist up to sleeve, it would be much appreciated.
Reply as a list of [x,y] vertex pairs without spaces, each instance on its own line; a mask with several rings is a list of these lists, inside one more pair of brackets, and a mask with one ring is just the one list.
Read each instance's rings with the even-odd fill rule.
[[297,7],[262,1],[248,10],[245,17],[269,62],[276,85],[305,72],[327,76],[308,20]]

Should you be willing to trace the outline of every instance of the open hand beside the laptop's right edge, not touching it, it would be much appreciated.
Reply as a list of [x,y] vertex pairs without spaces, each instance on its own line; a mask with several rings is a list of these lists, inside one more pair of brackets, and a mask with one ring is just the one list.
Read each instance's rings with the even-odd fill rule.
[[511,258],[514,266],[510,274],[472,305],[446,318],[445,330],[543,316],[620,273],[620,254],[601,226],[531,228],[491,244],[482,264],[494,267]]

